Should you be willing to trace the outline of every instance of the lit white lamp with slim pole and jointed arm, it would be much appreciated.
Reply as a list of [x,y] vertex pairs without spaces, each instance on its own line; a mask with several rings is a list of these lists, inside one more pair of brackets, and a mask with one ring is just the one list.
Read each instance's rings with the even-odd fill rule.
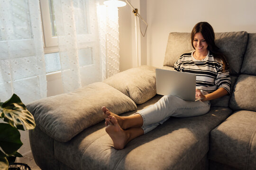
[[[105,0],[103,3],[107,6],[114,6],[114,7],[123,7],[126,5],[126,3],[128,3],[128,5],[133,9],[132,12],[134,13],[137,66],[140,66],[141,65],[141,57],[140,57],[140,55],[138,55],[137,17],[139,17],[146,24],[146,29],[147,29],[148,25],[147,25],[146,21],[141,17],[141,15],[138,13],[138,9],[134,8],[128,0],[125,0],[125,1],[126,2],[124,2],[122,0]],[[139,23],[140,23],[140,20],[139,20]],[[140,26],[139,26],[139,28],[140,28]],[[141,32],[141,29],[140,29],[140,33],[142,34],[143,37],[146,34],[146,29],[145,29],[144,34]]]

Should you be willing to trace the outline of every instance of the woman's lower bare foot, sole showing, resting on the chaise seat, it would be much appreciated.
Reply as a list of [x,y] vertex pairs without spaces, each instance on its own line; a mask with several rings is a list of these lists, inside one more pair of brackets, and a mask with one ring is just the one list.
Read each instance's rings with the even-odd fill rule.
[[106,132],[111,137],[114,148],[117,150],[123,149],[128,141],[128,134],[119,126],[117,119],[112,116],[111,119],[107,118],[106,122],[108,126],[106,127]]

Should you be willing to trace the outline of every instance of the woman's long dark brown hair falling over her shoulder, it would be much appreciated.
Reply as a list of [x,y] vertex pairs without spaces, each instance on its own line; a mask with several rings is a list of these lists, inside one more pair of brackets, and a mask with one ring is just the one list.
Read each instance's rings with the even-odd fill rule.
[[193,45],[193,41],[196,33],[202,34],[203,38],[208,44],[207,49],[213,54],[214,58],[217,59],[217,61],[222,62],[222,71],[229,70],[229,64],[226,57],[221,51],[219,51],[219,47],[217,47],[217,45],[215,44],[215,34],[212,26],[208,22],[199,22],[193,27],[191,32],[191,44],[194,49],[195,47]]

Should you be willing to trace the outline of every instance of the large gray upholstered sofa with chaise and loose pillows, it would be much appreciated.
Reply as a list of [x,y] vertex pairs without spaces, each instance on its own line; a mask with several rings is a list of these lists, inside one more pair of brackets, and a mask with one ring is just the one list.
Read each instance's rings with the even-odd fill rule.
[[[103,82],[27,105],[37,126],[29,131],[42,170],[255,170],[256,34],[216,33],[231,69],[231,95],[211,101],[210,111],[170,118],[123,150],[105,132],[101,106],[130,115],[157,102],[155,68],[141,66]],[[191,51],[190,33],[170,33],[165,69]]]

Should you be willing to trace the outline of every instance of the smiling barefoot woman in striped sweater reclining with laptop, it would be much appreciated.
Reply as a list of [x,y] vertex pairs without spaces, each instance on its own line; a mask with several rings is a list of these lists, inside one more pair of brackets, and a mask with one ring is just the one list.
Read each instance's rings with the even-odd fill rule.
[[172,117],[200,116],[210,110],[210,100],[230,93],[229,65],[225,56],[218,51],[215,35],[207,22],[196,24],[191,33],[192,47],[174,64],[174,70],[196,74],[196,98],[201,101],[184,101],[173,95],[163,96],[154,105],[134,115],[120,117],[102,107],[106,117],[106,132],[110,135],[115,149],[123,149],[137,136],[146,134]]

